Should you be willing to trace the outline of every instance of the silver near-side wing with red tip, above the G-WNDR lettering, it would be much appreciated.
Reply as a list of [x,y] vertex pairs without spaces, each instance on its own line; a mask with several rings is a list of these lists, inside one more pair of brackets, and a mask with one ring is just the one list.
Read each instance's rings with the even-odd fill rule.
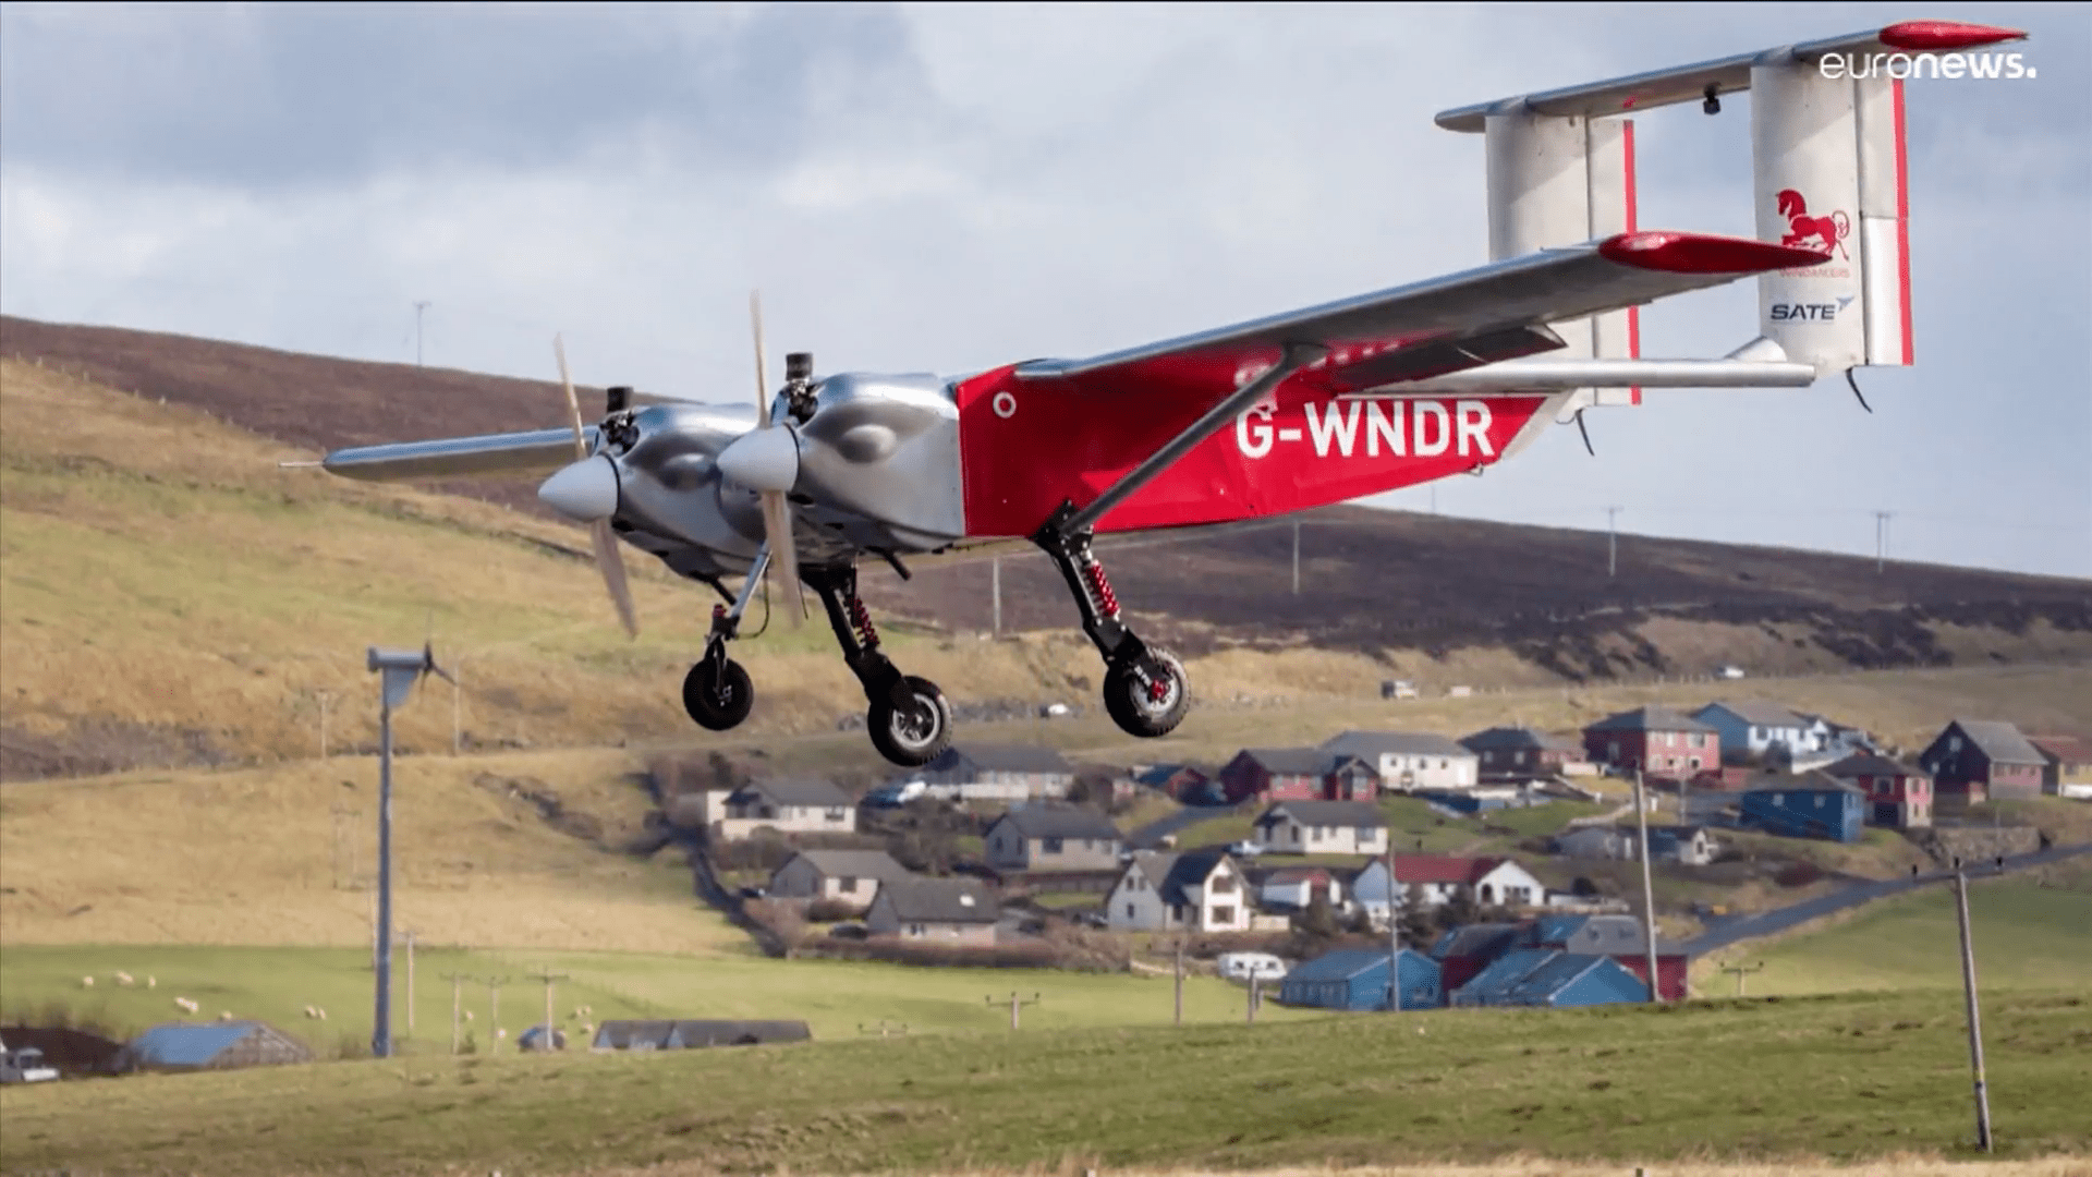
[[1563,341],[1548,323],[1824,260],[1816,249],[1741,237],[1623,232],[1088,360],[1031,360],[1013,375],[1079,392],[1169,390],[1218,402],[1276,364],[1287,343],[1318,343],[1328,354],[1293,381],[1341,396],[1556,350]]

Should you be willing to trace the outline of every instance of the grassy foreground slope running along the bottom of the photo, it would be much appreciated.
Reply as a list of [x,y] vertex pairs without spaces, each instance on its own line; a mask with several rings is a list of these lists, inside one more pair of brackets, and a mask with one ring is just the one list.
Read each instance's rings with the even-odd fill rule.
[[[2084,995],[1985,1009],[2000,1158],[2084,1156]],[[410,1058],[0,1093],[73,1173],[1245,1171],[1969,1152],[1958,997],[987,1030],[659,1056]]]

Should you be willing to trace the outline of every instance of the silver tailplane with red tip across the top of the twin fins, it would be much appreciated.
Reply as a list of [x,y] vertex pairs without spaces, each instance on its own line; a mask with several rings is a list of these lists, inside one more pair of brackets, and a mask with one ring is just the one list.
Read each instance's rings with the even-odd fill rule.
[[2019,29],[1998,29],[1992,25],[1969,25],[1960,21],[1902,21],[1883,29],[1845,34],[1797,46],[1738,52],[1736,57],[1724,57],[1718,61],[1653,69],[1648,73],[1611,77],[1607,82],[1588,82],[1584,86],[1565,86],[1561,90],[1525,94],[1523,98],[1475,103],[1473,107],[1441,111],[1437,115],[1437,126],[1479,134],[1485,130],[1487,115],[1492,111],[1523,109],[1540,115],[1579,115],[1596,119],[1605,115],[1669,107],[1674,103],[1699,103],[1707,98],[1709,86],[1715,94],[1749,90],[1751,65],[1761,63],[1766,57],[1787,57],[1791,61],[1814,63],[1828,52],[1954,52],[2023,40],[2025,36],[2027,34]]

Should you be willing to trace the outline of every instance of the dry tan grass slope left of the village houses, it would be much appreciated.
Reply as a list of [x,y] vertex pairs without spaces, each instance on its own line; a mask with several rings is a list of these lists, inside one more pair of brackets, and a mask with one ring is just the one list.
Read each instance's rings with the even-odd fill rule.
[[[634,771],[615,750],[395,760],[395,926],[423,945],[743,945],[680,852],[623,852],[651,808]],[[508,781],[556,794],[567,829]],[[366,945],[377,760],[10,783],[0,861],[6,945]]]

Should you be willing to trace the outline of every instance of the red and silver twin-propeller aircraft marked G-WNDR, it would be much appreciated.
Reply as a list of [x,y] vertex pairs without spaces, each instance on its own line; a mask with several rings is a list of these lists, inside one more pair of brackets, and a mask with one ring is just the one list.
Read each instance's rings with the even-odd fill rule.
[[[839,373],[787,360],[772,396],[709,406],[609,390],[573,429],[448,438],[326,454],[366,480],[552,471],[540,496],[594,530],[638,632],[617,538],[711,584],[705,653],[682,685],[699,725],[749,716],[728,660],[770,570],[797,622],[820,597],[864,683],[872,743],[925,764],[952,735],[941,691],[879,649],[858,599],[866,555],[893,563],[1025,538],[1067,578],[1105,658],[1105,708],[1163,735],[1190,704],[1184,666],[1121,622],[1098,532],[1182,528],[1343,503],[1504,461],[1588,406],[1642,387],[1803,387],[1866,364],[1910,364],[1904,90],[1893,57],[2025,34],[1906,21],[1841,38],[1446,111],[1487,142],[1487,266],[1079,360],[1027,360],[956,379]],[[1826,54],[1843,54],[1826,69]],[[1902,59],[1908,67],[1910,57]],[[1636,224],[1634,124],[1674,103],[1720,111],[1751,90],[1757,239]],[[1640,358],[1636,308],[1757,276],[1759,329],[1726,358]],[[565,377],[565,356],[561,356]],[[1858,385],[1854,385],[1858,392]],[[726,576],[741,576],[728,591]]]

